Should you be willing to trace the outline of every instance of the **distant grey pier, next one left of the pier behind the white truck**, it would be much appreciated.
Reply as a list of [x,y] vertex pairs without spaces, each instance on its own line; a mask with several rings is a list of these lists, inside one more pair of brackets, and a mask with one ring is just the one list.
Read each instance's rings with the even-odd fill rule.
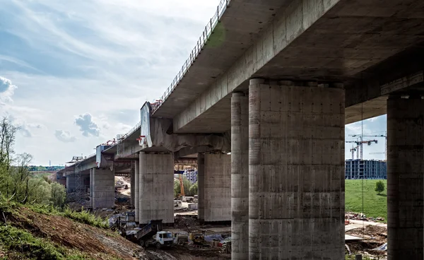
[[93,208],[114,206],[114,172],[93,169]]

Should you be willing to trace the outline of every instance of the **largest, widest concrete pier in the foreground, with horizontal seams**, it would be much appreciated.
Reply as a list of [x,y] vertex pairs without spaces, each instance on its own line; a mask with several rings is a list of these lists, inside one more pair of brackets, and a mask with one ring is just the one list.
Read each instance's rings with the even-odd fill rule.
[[249,259],[344,259],[344,90],[249,85]]

